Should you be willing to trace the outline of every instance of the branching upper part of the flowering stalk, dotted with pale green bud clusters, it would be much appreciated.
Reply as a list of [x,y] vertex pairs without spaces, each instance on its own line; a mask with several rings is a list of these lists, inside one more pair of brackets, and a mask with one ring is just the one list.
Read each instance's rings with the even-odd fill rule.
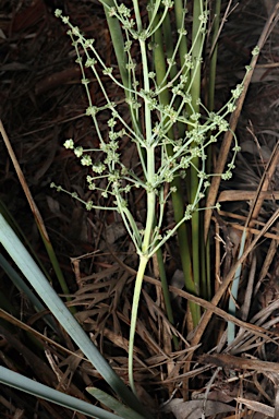
[[[149,13],[154,15],[157,11],[157,5],[160,2],[153,3]],[[87,176],[88,189],[99,190],[99,180],[106,179],[106,189],[102,189],[101,196],[106,200],[113,197],[114,206],[109,210],[116,210],[120,212],[129,229],[131,238],[134,241],[136,250],[141,253],[142,249],[142,235],[137,231],[136,223],[133,219],[132,213],[129,210],[128,194],[132,188],[143,188],[146,193],[155,193],[158,200],[159,216],[157,219],[162,220],[161,212],[165,208],[165,202],[160,200],[166,183],[173,181],[174,177],[185,177],[186,170],[193,167],[195,157],[199,158],[199,166],[194,167],[197,172],[199,184],[196,191],[196,199],[189,204],[185,208],[184,220],[190,219],[193,212],[197,208],[198,202],[205,196],[205,192],[209,187],[210,173],[206,172],[205,161],[207,158],[207,147],[209,144],[217,142],[218,137],[228,131],[229,123],[227,121],[228,115],[235,109],[235,100],[241,95],[243,84],[236,86],[232,91],[232,97],[227,105],[218,112],[208,112],[203,107],[201,100],[198,105],[203,108],[203,115],[195,112],[192,106],[191,80],[190,72],[197,64],[192,57],[191,50],[184,56],[184,62],[181,63],[180,70],[177,75],[170,80],[170,70],[175,65],[175,53],[179,48],[180,40],[183,36],[186,36],[186,31],[180,28],[178,31],[178,41],[173,51],[173,57],[167,60],[167,72],[163,83],[157,85],[156,74],[149,71],[148,64],[144,67],[144,83],[138,79],[136,73],[137,64],[132,58],[132,47],[134,44],[138,46],[138,43],[146,44],[149,49],[156,48],[153,44],[153,34],[158,25],[161,25],[166,13],[169,8],[172,7],[171,1],[162,1],[163,12],[161,19],[156,27],[154,27],[153,19],[150,19],[149,25],[146,29],[141,28],[138,23],[134,21],[131,15],[132,12],[123,3],[109,8],[109,15],[118,19],[123,34],[125,36],[124,51],[126,52],[125,70],[129,79],[129,86],[122,84],[113,74],[113,69],[106,67],[105,62],[100,58],[98,51],[95,48],[94,39],[86,39],[80,29],[73,26],[69,17],[63,16],[60,10],[56,11],[56,15],[61,17],[63,23],[69,25],[70,29],[68,34],[72,39],[72,44],[76,50],[76,62],[80,64],[84,85],[88,98],[88,107],[86,115],[90,116],[98,135],[99,147],[84,149],[81,146],[74,145],[72,139],[64,142],[66,148],[73,149],[76,157],[80,158],[83,166],[88,166],[90,173]],[[184,11],[186,12],[186,10]],[[206,29],[208,20],[208,12],[204,11],[199,16],[201,31]],[[137,26],[137,29],[136,29]],[[140,27],[138,27],[140,26]],[[143,49],[142,49],[143,52]],[[147,58],[144,57],[147,61]],[[106,99],[106,105],[102,107],[94,106],[88,88],[89,80],[85,76],[85,68],[89,68]],[[250,69],[247,69],[248,71]],[[106,91],[106,86],[102,82],[101,74],[107,75],[111,83],[116,87],[120,87],[125,95],[125,100],[132,111],[132,123],[129,124],[121,115],[119,106],[111,101]],[[167,83],[166,83],[167,81]],[[141,88],[144,84],[148,86],[148,89]],[[159,100],[159,95],[168,89],[171,93],[171,97],[168,105],[162,105]],[[187,111],[185,110],[187,109]],[[105,139],[98,127],[98,113],[104,110],[109,111],[110,117],[107,119],[107,127],[109,130],[108,139]],[[142,132],[140,119],[146,112],[149,113],[149,118],[145,118],[145,122],[149,123],[149,127],[145,127]],[[179,139],[170,139],[168,132],[177,124],[183,124],[184,135]],[[135,142],[138,151],[138,161],[142,164],[143,177],[134,172],[133,168],[126,167],[121,160],[120,145],[124,137],[129,137],[132,142]],[[173,154],[169,155],[168,146],[171,146]],[[153,151],[153,156],[157,154],[157,149],[160,151],[160,160],[156,163],[156,170],[150,178],[148,176],[148,163],[146,156]],[[231,170],[234,168],[235,154],[239,151],[236,144],[233,148],[233,155],[231,161],[228,164],[227,171],[222,173],[223,179],[231,177]],[[155,158],[155,157],[154,157]],[[52,187],[54,184],[52,183]],[[61,187],[59,187],[61,190]],[[173,192],[173,189],[169,189]],[[87,210],[95,208],[96,205],[93,201],[85,203]],[[104,206],[106,208],[106,205]],[[154,230],[160,230],[160,225]],[[153,235],[153,243],[149,246],[149,252],[154,253],[155,248],[158,247],[158,239],[160,243],[165,242],[177,230],[175,226],[172,230],[168,231],[165,237]]]

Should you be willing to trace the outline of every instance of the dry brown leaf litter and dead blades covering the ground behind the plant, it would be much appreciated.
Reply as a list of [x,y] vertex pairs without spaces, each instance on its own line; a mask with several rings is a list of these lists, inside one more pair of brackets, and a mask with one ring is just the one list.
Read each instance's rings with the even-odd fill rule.
[[[263,4],[255,4],[248,0],[236,5],[235,1],[231,2],[231,10],[234,7],[235,10],[225,24],[220,39],[221,70],[217,77],[217,99],[220,103],[240,77],[243,65],[247,64],[250,50],[260,36],[267,14],[272,13],[271,3],[264,1]],[[72,304],[78,309],[76,318],[126,382],[131,285],[135,275],[133,267],[136,266],[133,249],[122,224],[114,216],[87,213],[78,202],[49,189],[54,178],[57,183],[77,191],[86,200],[86,168],[81,168],[62,144],[72,136],[83,144],[96,141],[90,121],[84,117],[86,100],[72,47],[64,34],[65,28],[53,17],[56,7],[61,7],[60,1],[2,1],[0,5],[1,119],[66,273]],[[113,57],[98,2],[68,0],[63,7],[88,36],[97,38],[109,64]],[[195,336],[184,335],[186,301],[195,298],[178,287],[171,287],[173,295],[181,299],[178,324],[173,327],[163,314],[160,283],[155,279],[151,265],[145,277],[135,347],[135,381],[143,402],[157,412],[158,418],[279,417],[278,222],[267,228],[276,213],[279,196],[278,31],[277,24],[255,68],[238,121],[242,153],[234,178],[229,187],[226,184],[226,190],[221,185],[219,191],[222,211],[213,217],[216,292],[229,273],[235,270],[242,231],[246,228],[248,232],[248,251],[242,260],[244,268],[235,339],[226,347],[226,325],[233,320],[226,312],[227,292],[219,292],[219,307],[217,300],[207,302],[196,299],[210,313],[203,339],[204,331],[201,334],[201,349],[197,345],[199,339],[195,342]],[[92,86],[92,95],[100,105],[102,99],[98,87],[94,83]],[[122,99],[119,97],[119,100]],[[101,120],[100,127],[106,130]],[[126,158],[133,159],[133,146],[124,144],[123,148]],[[2,142],[0,155],[0,200],[45,262],[45,250]],[[100,196],[97,199],[101,200]],[[144,217],[141,196],[133,199]],[[257,237],[259,240],[253,242]],[[169,276],[172,277],[178,267],[174,241],[166,250],[166,260]],[[49,268],[47,262],[46,268]],[[61,346],[51,335],[45,337],[48,343],[44,340],[39,316],[31,310],[24,296],[10,289],[4,273],[0,275],[0,291],[14,306],[10,316],[1,309],[1,319],[9,319],[9,324],[13,325],[11,330],[0,325],[0,362],[26,372],[37,381],[89,399],[81,388],[92,384],[102,385],[100,376],[76,351],[63,331]],[[19,313],[22,323],[15,319]],[[44,359],[31,350],[33,346],[24,332],[25,327],[29,336],[37,338],[37,330],[40,330],[39,342],[46,354]],[[172,351],[173,334],[181,340],[179,351]],[[205,344],[211,336],[216,338],[214,348]],[[205,354],[207,350],[208,354]],[[196,354],[201,356],[196,357]],[[191,368],[185,368],[190,366],[190,360]],[[183,400],[181,391],[185,382],[192,396],[187,402]],[[166,400],[169,403],[160,410]],[[36,404],[31,396],[22,397],[19,392],[0,387],[0,412],[3,418],[8,415],[33,418],[40,412],[39,405],[49,417],[72,417],[66,409],[41,400]],[[76,417],[84,418],[82,415]]]

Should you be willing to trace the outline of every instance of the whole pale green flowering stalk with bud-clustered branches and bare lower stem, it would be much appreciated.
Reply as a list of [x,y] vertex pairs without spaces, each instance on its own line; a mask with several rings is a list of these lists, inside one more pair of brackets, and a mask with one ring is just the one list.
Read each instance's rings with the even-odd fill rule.
[[[181,225],[202,210],[201,201],[213,176],[206,170],[207,149],[229,130],[227,119],[235,109],[235,100],[243,84],[232,91],[229,101],[216,112],[207,111],[201,100],[196,81],[198,79],[201,83],[201,63],[208,25],[207,2],[194,2],[195,29],[191,41],[185,28],[187,10],[180,1],[150,1],[145,10],[143,2],[140,7],[137,0],[131,2],[131,8],[117,1],[101,3],[119,69],[108,68],[98,53],[94,39],[86,39],[78,27],[62,15],[62,11],[56,11],[56,15],[70,27],[68,34],[76,50],[76,62],[83,74],[82,84],[88,98],[86,115],[92,117],[99,141],[97,148],[84,149],[75,146],[73,139],[66,140],[64,146],[74,151],[83,166],[88,166],[88,189],[98,191],[104,199],[101,207],[94,201],[84,202],[86,208],[118,212],[138,254],[129,346],[129,378],[135,393],[133,345],[147,263]],[[171,13],[172,8],[175,16]],[[170,36],[175,40],[174,45],[171,45]],[[101,107],[93,103],[89,79],[86,77],[88,70],[85,69],[92,70],[99,84],[105,99]],[[119,81],[119,73],[122,81]],[[107,91],[102,75],[109,77],[117,91],[114,100]],[[123,115],[123,105],[120,106],[117,101],[121,91],[131,118]],[[102,123],[104,116],[109,115],[108,139],[98,124],[100,115]],[[136,145],[141,169],[138,166],[135,169],[126,165],[122,159],[120,148],[126,139]],[[231,177],[238,151],[235,139],[231,161],[227,171],[221,173],[223,179]],[[184,179],[186,189],[190,189],[190,199],[180,219],[162,232],[166,202],[171,194],[177,193],[177,179]],[[52,187],[56,185],[52,183]],[[56,188],[62,190],[61,187]],[[138,228],[135,212],[129,205],[129,195],[133,189],[141,189],[146,196],[146,219],[142,229]],[[80,199],[75,193],[72,195]],[[106,201],[113,204],[106,205]]]

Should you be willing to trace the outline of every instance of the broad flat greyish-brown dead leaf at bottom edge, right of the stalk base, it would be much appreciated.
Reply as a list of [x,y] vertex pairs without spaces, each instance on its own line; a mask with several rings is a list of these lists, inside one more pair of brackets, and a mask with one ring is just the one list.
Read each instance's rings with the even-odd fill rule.
[[[205,408],[205,409],[204,409]],[[220,402],[172,399],[165,408],[165,412],[172,412],[177,419],[199,419],[205,417],[234,411],[234,407]]]

